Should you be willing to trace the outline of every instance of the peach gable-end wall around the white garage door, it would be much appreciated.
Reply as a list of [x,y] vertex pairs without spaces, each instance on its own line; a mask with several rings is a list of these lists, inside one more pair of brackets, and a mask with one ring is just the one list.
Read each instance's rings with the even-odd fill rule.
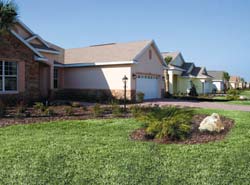
[[[149,50],[151,50],[152,58],[149,58]],[[147,49],[138,59],[137,64],[132,66],[132,74],[148,74],[148,75],[156,75],[159,76],[159,97],[162,97],[162,92],[165,89],[164,79],[164,68],[161,63],[161,58],[158,56],[155,48],[151,46]],[[131,74],[131,78],[132,78]],[[131,81],[132,90],[136,90],[136,79],[132,79]]]

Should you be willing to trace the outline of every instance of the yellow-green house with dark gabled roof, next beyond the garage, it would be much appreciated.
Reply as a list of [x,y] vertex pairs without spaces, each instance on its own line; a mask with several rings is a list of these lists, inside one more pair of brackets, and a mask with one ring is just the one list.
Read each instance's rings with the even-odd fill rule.
[[205,67],[196,67],[194,63],[185,62],[180,52],[162,53],[163,58],[171,57],[168,64],[167,86],[171,94],[188,94],[194,84],[198,94],[212,92],[212,78]]

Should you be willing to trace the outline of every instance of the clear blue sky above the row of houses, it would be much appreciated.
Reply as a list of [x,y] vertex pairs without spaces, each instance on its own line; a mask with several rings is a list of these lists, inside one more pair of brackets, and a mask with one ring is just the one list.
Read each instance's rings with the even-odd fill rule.
[[154,39],[160,51],[250,81],[250,0],[15,0],[63,48]]

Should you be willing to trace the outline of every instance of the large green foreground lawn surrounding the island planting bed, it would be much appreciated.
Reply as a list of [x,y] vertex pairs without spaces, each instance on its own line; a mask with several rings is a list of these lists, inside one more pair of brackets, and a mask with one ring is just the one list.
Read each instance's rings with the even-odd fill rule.
[[0,128],[0,184],[248,184],[250,113],[216,112],[236,126],[201,145],[131,141],[133,119]]

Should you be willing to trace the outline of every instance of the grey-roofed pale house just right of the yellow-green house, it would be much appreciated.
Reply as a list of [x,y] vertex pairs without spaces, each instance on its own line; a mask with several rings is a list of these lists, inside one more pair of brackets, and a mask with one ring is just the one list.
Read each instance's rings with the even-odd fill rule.
[[225,90],[226,80],[224,79],[224,71],[207,71],[208,75],[212,77],[213,92],[221,93]]

